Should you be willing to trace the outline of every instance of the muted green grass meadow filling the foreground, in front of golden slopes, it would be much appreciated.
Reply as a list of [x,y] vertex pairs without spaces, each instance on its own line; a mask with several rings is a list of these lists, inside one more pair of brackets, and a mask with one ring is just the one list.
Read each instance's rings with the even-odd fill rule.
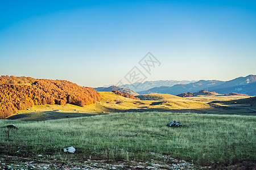
[[[168,128],[177,120],[183,128]],[[0,154],[63,156],[73,146],[81,160],[150,160],[161,155],[200,165],[255,163],[256,118],[192,113],[116,113],[41,122],[0,120]],[[7,131],[9,130],[9,139]],[[19,151],[19,152],[17,152]]]

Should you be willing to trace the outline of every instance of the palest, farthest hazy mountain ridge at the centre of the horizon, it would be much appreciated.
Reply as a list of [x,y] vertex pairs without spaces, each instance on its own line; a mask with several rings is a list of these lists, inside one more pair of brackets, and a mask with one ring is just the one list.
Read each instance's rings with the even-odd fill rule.
[[146,81],[144,83],[133,83],[133,84],[124,84],[122,86],[118,87],[124,87],[133,91],[146,91],[150,88],[154,87],[160,87],[160,86],[174,86],[175,84],[188,84],[188,83],[194,83],[195,80],[189,81],[189,80],[158,80],[158,81]]

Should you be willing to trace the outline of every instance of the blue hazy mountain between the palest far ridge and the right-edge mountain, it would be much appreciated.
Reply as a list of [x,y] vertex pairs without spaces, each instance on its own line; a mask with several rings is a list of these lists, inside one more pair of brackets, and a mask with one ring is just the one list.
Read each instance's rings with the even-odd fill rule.
[[217,86],[220,84],[225,83],[224,81],[220,80],[199,80],[195,83],[188,83],[188,84],[176,84],[172,87],[154,87],[147,91],[138,92],[138,94],[151,94],[151,93],[158,93],[158,94],[171,94],[171,95],[178,95],[184,92],[197,92],[200,90],[207,89],[208,87]]

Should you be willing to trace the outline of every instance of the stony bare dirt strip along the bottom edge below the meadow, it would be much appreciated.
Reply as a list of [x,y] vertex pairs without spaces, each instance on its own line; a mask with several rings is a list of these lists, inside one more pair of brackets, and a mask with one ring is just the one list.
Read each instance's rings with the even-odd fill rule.
[[[152,154],[155,154],[152,152]],[[22,158],[18,156],[6,156],[0,161],[0,169],[197,169],[193,163],[185,160],[177,160],[171,156],[162,156],[168,163],[151,159],[147,162],[131,160],[128,162],[108,162],[107,160],[86,160],[74,162],[67,158],[56,159],[52,156],[38,158]]]

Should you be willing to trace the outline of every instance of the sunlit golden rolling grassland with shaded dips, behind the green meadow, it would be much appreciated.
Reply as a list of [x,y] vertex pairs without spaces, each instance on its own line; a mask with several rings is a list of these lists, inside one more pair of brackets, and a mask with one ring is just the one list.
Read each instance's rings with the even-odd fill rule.
[[[134,100],[113,92],[100,92],[102,99],[95,104],[79,107],[72,104],[65,105],[36,105],[30,110],[19,111],[18,115],[10,118],[16,120],[49,120],[64,117],[92,116],[105,113],[119,112],[191,112],[191,113],[210,113],[210,114],[242,114],[254,115],[255,112],[246,108],[256,109],[255,104],[232,104],[232,101],[247,99],[245,96],[196,96],[196,97],[177,97],[168,94],[147,94],[139,95],[140,99]],[[230,101],[228,105],[223,102]],[[211,104],[210,102],[216,102]],[[220,107],[218,107],[220,106]],[[225,106],[237,107],[236,109],[224,108]],[[22,114],[22,116],[21,116]]]

